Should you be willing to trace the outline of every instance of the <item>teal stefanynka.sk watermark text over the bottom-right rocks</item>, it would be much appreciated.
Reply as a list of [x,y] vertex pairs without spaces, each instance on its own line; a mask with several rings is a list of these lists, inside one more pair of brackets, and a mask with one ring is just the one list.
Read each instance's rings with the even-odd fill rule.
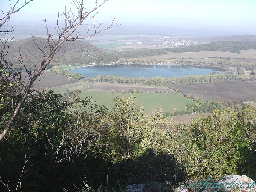
[[237,178],[236,181],[234,181],[233,183],[212,183],[212,182],[207,182],[209,181],[211,178],[208,178],[204,183],[202,182],[197,182],[198,180],[196,180],[196,182],[194,183],[189,183],[189,186],[187,186],[188,189],[191,188],[198,188],[198,191],[200,191],[203,187],[204,188],[219,188],[217,191],[218,192],[221,188],[254,188],[256,187],[256,180],[251,184],[251,183],[236,183],[236,181],[239,179]]

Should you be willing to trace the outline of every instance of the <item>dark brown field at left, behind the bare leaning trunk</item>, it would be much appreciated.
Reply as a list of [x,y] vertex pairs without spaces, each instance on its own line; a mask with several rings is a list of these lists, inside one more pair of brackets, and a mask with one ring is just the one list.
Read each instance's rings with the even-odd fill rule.
[[[22,73],[22,78],[25,78],[25,82],[29,80],[27,73]],[[40,80],[42,78],[42,80]],[[50,74],[48,72],[44,72],[34,83],[33,88],[35,90],[39,89],[49,89],[51,87],[57,87],[65,84],[78,82],[78,80],[70,79],[68,80],[66,77],[58,75],[58,74]]]

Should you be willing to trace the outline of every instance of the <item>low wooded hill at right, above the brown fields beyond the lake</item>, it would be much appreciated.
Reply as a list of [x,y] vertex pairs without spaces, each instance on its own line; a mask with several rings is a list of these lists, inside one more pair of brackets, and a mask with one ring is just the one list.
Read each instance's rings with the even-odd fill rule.
[[232,53],[240,53],[240,50],[256,49],[256,41],[253,42],[238,42],[238,41],[217,41],[208,44],[196,46],[166,48],[168,52],[199,52],[199,51],[230,51]]

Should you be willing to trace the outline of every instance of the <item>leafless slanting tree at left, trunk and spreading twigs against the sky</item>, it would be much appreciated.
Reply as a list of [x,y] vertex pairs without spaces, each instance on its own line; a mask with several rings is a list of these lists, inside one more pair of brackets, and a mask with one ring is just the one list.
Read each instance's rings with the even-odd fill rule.
[[[18,1],[17,1],[17,3],[18,3]],[[25,1],[25,4],[22,7],[27,5],[30,1],[28,1],[28,2]],[[20,61],[20,64],[26,68],[27,74],[29,76],[29,82],[28,83],[19,82],[20,86],[23,88],[22,89],[23,91],[21,93],[19,102],[13,106],[13,109],[14,109],[13,113],[11,114],[11,116],[10,116],[9,120],[7,121],[7,123],[5,124],[5,126],[2,128],[3,131],[0,134],[0,140],[2,140],[4,138],[4,136],[11,130],[12,124],[14,123],[15,118],[18,116],[18,113],[19,113],[20,109],[22,108],[23,102],[29,95],[30,90],[32,89],[32,86],[33,86],[35,80],[37,80],[37,78],[39,78],[39,76],[41,76],[43,74],[44,70],[49,66],[54,55],[56,54],[56,52],[59,50],[60,46],[65,41],[72,41],[72,40],[76,40],[76,39],[86,39],[95,34],[101,33],[102,31],[104,31],[106,29],[118,26],[117,22],[115,22],[116,18],[113,18],[112,23],[110,23],[110,25],[106,28],[101,29],[102,23],[99,23],[98,26],[95,25],[95,16],[97,15],[97,9],[99,7],[101,7],[103,4],[105,4],[107,1],[108,0],[103,0],[101,2],[96,1],[95,7],[91,8],[91,9],[86,9],[84,0],[73,1],[73,5],[75,6],[76,12],[71,9],[71,4],[70,4],[69,9],[65,9],[65,11],[62,14],[58,14],[57,27],[55,27],[57,33],[59,34],[58,39],[53,39],[52,33],[50,33],[48,31],[47,22],[45,19],[47,45],[45,47],[40,47],[39,45],[37,45],[35,43],[37,45],[38,49],[41,50],[42,55],[44,56],[44,60],[41,62],[41,64],[39,66],[35,66],[35,70],[32,71],[31,69],[26,68],[26,66],[22,60],[22,55],[20,54],[21,57],[20,57],[19,61]],[[10,5],[10,7],[7,8],[7,13],[4,14],[4,18],[1,19],[0,26],[3,26],[6,22],[8,22],[8,20],[10,20],[10,17],[13,13],[18,12],[20,10],[20,8],[15,10],[15,5],[14,6]],[[87,19],[93,20],[93,26],[87,27],[87,32],[84,36],[81,36],[79,33],[75,33],[75,31],[78,29],[79,26],[86,25],[85,22],[87,21]],[[64,23],[65,23],[64,26],[60,25],[61,20],[64,21]],[[12,31],[12,29],[7,29],[2,32],[9,33],[11,31]],[[34,37],[33,37],[33,40],[34,40]],[[7,42],[7,41],[5,41],[5,42]]]

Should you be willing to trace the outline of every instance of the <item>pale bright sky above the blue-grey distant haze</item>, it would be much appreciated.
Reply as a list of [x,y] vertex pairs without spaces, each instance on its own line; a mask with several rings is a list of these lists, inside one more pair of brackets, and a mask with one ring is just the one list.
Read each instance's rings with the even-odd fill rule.
[[[15,2],[16,0],[11,0]],[[20,0],[23,1],[23,0]],[[86,0],[87,8],[96,0]],[[102,1],[102,0],[99,0]],[[55,21],[57,12],[69,6],[70,0],[33,1],[14,16],[13,20]],[[4,10],[8,0],[0,0]],[[199,23],[204,25],[256,26],[255,0],[109,0],[98,10],[97,20],[117,17],[120,23]]]

